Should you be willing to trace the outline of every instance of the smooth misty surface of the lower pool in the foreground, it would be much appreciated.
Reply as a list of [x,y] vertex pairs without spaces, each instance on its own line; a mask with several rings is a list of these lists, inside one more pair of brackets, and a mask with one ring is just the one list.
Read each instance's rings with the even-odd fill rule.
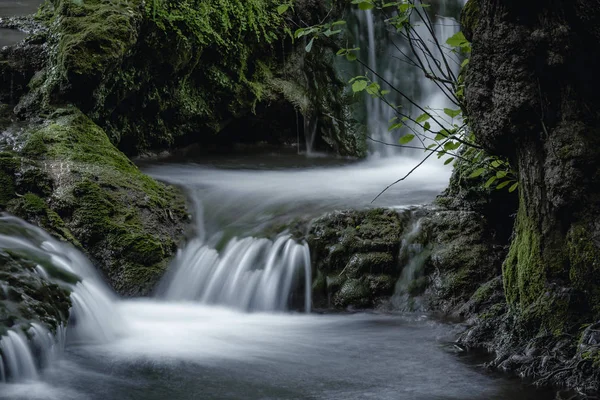
[[243,314],[128,301],[129,333],[69,346],[2,399],[542,400],[461,362],[448,327],[420,315]]

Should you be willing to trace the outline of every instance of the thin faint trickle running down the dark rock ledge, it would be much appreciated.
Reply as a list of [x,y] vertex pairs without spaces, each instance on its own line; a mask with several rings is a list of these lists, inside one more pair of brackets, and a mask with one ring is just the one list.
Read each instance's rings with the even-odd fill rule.
[[[419,243],[421,234],[421,219],[416,220],[411,230],[402,238],[400,247],[400,259],[405,260],[404,268],[400,278],[396,282],[394,296],[391,299],[393,306],[403,311],[415,311],[419,309],[418,298],[420,294],[419,285],[423,275],[423,265],[429,256],[429,252]],[[416,293],[417,292],[417,293]]]

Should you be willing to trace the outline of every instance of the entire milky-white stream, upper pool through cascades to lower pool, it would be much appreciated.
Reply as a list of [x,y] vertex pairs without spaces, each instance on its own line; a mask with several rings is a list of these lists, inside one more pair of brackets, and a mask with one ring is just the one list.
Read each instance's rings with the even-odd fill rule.
[[[35,2],[1,3],[7,15]],[[377,28],[372,21],[367,27],[374,44]],[[7,40],[0,31],[0,45]],[[386,73],[398,76],[395,68]],[[422,78],[413,80],[429,90]],[[368,107],[383,132],[385,111]],[[279,153],[142,165],[183,187],[194,207],[195,229],[153,298],[118,298],[80,252],[0,217],[13,232],[0,235],[0,250],[28,252],[82,278],[71,288],[67,329],[52,335],[32,324],[29,340],[15,331],[2,337],[0,399],[551,399],[474,367],[481,360],[451,345],[455,328],[427,315],[307,313],[307,245],[284,228],[261,235],[294,218],[369,207],[414,164],[406,156],[356,163]],[[428,203],[450,172],[425,164],[375,205]],[[419,257],[410,238],[405,246]],[[415,273],[411,265],[406,271],[399,286]],[[293,296],[302,297],[299,311],[289,311]]]

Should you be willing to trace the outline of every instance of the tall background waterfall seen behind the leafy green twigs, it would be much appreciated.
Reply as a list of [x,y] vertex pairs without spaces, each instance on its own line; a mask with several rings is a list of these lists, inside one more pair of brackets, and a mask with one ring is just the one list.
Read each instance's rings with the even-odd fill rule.
[[[455,19],[458,18],[462,4],[463,1],[461,0],[442,1],[437,4],[435,11],[430,11],[429,8],[425,9],[430,13],[432,27],[440,43],[445,43],[449,37],[459,30],[459,24]],[[444,19],[444,17],[448,18]],[[372,10],[361,11],[354,8],[351,19],[354,21],[353,29],[349,32],[353,36],[351,40],[354,40],[355,47],[360,48],[360,59],[364,60],[372,70],[376,71],[391,86],[398,88],[424,108],[432,110],[439,110],[444,107],[455,108],[435,83],[425,77],[423,71],[406,62],[403,54],[411,56],[412,50],[409,44],[405,39],[389,30],[382,16],[377,15]],[[424,23],[417,20],[413,23],[419,36],[429,44],[433,38]],[[429,48],[437,59],[441,59],[441,53],[436,46],[431,44]],[[416,51],[419,57],[424,57],[421,50],[416,49]],[[446,53],[449,54],[450,50]],[[365,71],[356,63],[353,63],[352,66],[343,63],[341,68],[351,69],[351,71],[341,71],[342,75],[348,75],[348,73],[352,76],[366,74],[370,79],[379,83],[382,90],[392,89],[380,78],[369,71]],[[456,64],[455,72],[458,72],[458,69],[458,64]],[[390,121],[396,116],[395,110],[378,98],[373,98],[368,94],[365,94],[365,96],[364,112],[366,113],[367,130],[369,136],[374,139],[374,141],[369,141],[371,155],[389,157],[400,151],[405,154],[415,154],[415,151],[406,151],[405,149],[379,143],[397,144],[398,139],[409,133],[410,130],[403,128],[389,132]],[[391,104],[401,106],[402,112],[413,118],[422,113],[393,90],[386,96],[386,99]],[[417,151],[416,154],[420,155],[421,153]]]

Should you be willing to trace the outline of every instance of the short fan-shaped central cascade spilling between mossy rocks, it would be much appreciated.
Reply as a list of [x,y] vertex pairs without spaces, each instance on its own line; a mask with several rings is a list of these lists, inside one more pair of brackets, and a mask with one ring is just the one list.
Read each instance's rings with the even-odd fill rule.
[[310,312],[311,267],[306,243],[299,244],[289,236],[275,241],[234,238],[219,253],[196,239],[177,255],[159,295],[248,311],[283,311],[302,274],[304,309]]

